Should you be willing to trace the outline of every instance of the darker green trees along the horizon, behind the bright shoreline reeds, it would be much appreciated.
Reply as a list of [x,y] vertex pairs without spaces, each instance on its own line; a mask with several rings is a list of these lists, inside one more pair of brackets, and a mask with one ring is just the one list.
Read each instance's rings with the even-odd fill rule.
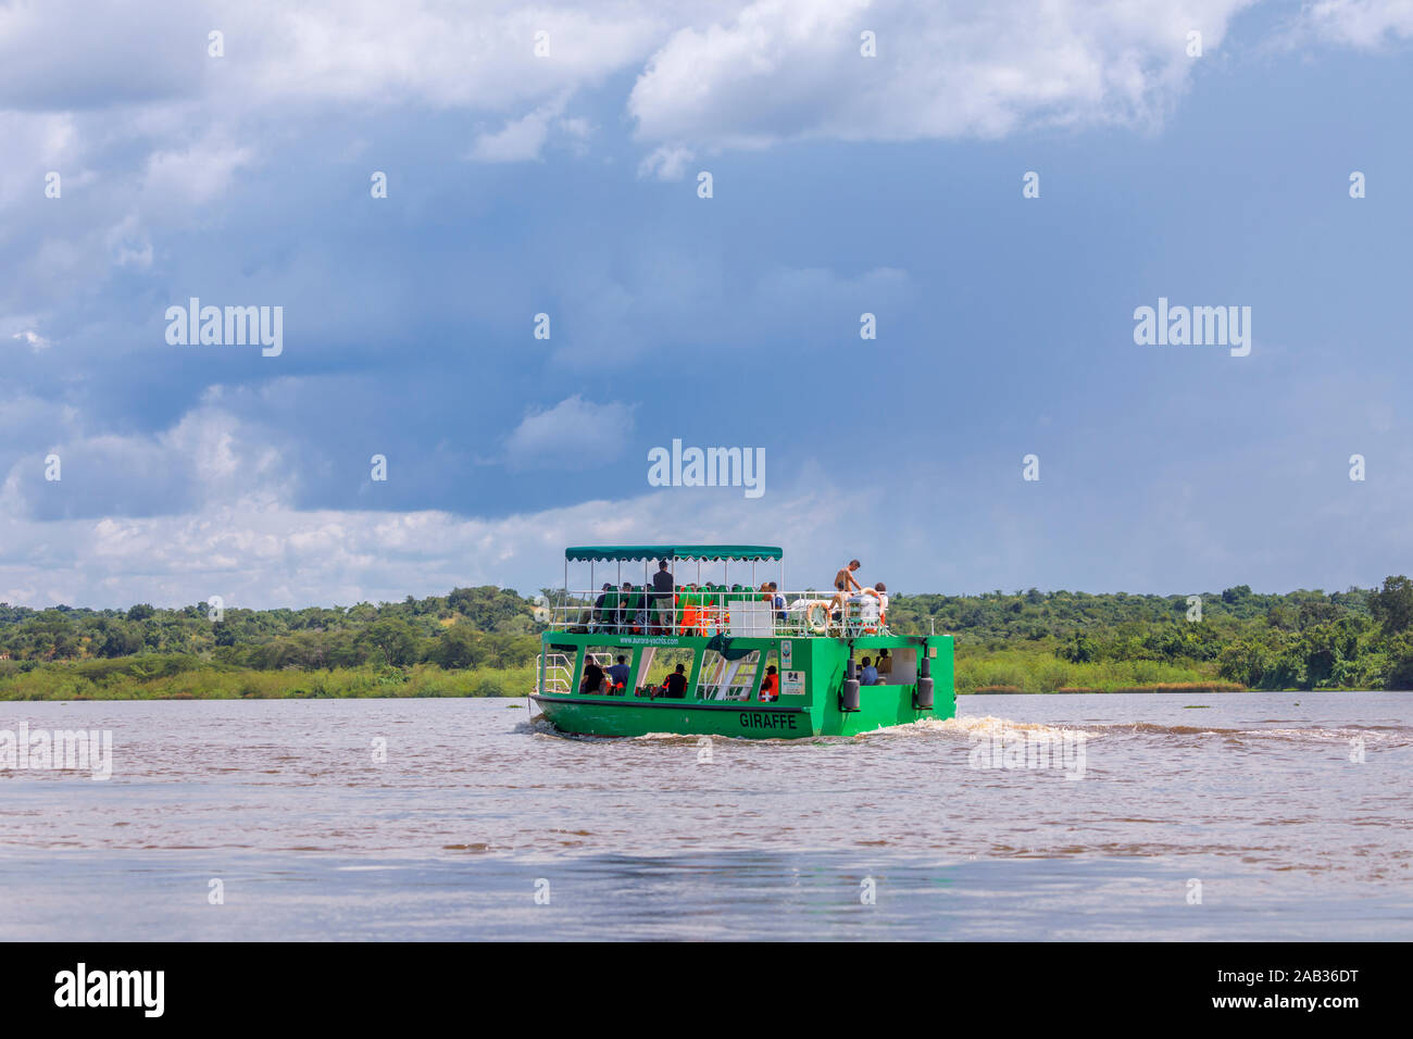
[[[1248,688],[1413,688],[1413,582],[1259,594],[1130,595],[1039,589],[897,595],[896,633],[952,633],[958,656],[1026,649],[1084,664],[1200,664]],[[540,649],[534,601],[509,588],[456,588],[401,602],[304,609],[162,609],[0,604],[6,670],[179,654],[253,670],[514,669]]]

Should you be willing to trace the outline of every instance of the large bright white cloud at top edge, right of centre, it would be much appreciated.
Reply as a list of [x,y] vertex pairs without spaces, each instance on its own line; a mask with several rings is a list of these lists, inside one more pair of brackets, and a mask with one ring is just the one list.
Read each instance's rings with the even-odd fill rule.
[[[682,148],[798,139],[999,137],[1030,123],[1149,123],[1186,88],[1187,33],[1217,48],[1253,0],[759,0],[682,28],[629,99],[639,137]],[[861,57],[873,31],[877,57]],[[657,153],[654,153],[657,155]],[[653,158],[667,175],[680,165]]]

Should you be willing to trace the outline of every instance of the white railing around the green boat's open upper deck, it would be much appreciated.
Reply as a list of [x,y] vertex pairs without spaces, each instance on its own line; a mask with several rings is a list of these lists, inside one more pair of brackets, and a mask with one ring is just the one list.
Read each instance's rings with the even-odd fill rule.
[[[601,599],[602,597],[602,599]],[[887,635],[886,599],[872,592],[839,597],[815,589],[766,592],[743,588],[569,591],[551,605],[551,630],[622,635],[729,635],[747,638],[855,638]]]

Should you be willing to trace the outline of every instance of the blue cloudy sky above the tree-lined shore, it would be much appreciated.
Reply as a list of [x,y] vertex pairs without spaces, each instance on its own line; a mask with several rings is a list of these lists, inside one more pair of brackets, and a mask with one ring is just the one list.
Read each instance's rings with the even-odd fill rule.
[[[651,540],[901,591],[1409,573],[1410,103],[1410,0],[0,0],[0,601]],[[170,344],[191,297],[283,352]],[[1160,297],[1251,307],[1249,356],[1137,345]],[[650,486],[674,438],[766,493]]]

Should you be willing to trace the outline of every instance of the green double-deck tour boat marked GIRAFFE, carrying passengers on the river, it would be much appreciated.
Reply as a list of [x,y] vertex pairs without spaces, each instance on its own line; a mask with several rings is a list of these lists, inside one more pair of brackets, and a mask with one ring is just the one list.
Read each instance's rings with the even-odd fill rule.
[[[571,564],[588,564],[592,591],[571,589]],[[704,564],[721,581],[704,580]],[[731,584],[733,564],[738,580],[749,568],[749,585]],[[780,580],[757,584],[762,564]],[[557,601],[541,604],[530,694],[561,732],[798,739],[957,712],[950,635],[893,635],[887,597],[872,589],[780,591],[777,547],[584,546],[564,565]],[[599,587],[595,571],[613,580]],[[654,585],[657,573],[671,585]]]

